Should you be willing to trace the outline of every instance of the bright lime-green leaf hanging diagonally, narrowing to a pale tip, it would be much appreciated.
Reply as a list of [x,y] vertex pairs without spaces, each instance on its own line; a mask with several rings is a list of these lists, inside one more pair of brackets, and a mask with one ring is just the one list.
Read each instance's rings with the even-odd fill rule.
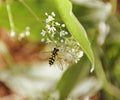
[[[62,20],[66,24],[69,32],[79,42],[81,48],[83,49],[94,67],[94,55],[90,47],[90,42],[87,38],[86,31],[72,13],[71,2],[69,2],[69,0],[55,0],[55,3],[58,12]],[[94,68],[92,68],[91,71],[93,69]]]

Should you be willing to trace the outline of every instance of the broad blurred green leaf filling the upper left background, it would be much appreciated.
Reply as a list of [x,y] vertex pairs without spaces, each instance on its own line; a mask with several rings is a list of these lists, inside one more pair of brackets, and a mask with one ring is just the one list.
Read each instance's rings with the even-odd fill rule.
[[[0,19],[2,19],[0,20],[0,26],[11,30],[6,5],[6,3],[0,5]],[[31,41],[40,41],[42,38],[40,32],[45,26],[45,12],[51,13],[54,11],[56,13],[51,0],[14,0],[8,2],[8,5],[11,9],[14,31],[19,34],[29,26],[31,32],[29,39]]]

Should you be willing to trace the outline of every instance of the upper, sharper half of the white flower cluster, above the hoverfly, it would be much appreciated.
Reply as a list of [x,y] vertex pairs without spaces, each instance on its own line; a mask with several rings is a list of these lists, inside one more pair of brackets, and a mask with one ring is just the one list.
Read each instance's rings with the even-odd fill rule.
[[52,12],[50,15],[46,12],[46,25],[42,29],[40,34],[42,35],[41,42],[64,42],[64,38],[68,35],[68,32],[65,31],[65,24],[60,24],[55,21],[55,13]]

